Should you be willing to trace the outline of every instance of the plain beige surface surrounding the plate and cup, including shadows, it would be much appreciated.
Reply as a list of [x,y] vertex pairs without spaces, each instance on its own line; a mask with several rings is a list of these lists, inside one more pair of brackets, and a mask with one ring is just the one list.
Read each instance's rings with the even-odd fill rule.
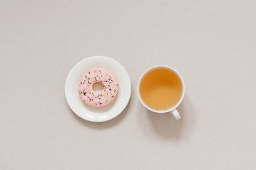
[[[0,169],[255,169],[256,1],[0,0]],[[92,55],[132,81],[124,112],[77,117],[64,83]],[[182,119],[150,113],[150,66],[184,77]]]

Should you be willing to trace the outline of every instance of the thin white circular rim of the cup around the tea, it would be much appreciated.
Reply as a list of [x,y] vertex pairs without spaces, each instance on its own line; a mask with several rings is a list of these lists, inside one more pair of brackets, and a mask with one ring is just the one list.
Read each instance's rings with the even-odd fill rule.
[[[145,74],[147,74],[149,71],[153,70],[153,69],[156,69],[156,68],[166,68],[166,69],[170,69],[172,70],[175,74],[177,74],[177,76],[180,78],[180,81],[182,83],[182,95],[180,97],[180,100],[177,104],[175,104],[175,106],[173,106],[172,108],[168,109],[168,110],[153,110],[152,108],[149,108],[141,99],[141,96],[140,96],[140,83],[141,83],[141,80],[142,78],[145,76]],[[169,66],[165,66],[165,65],[157,65],[157,66],[152,66],[152,67],[149,67],[146,71],[144,71],[144,73],[141,74],[140,76],[140,79],[138,81],[138,84],[137,84],[137,94],[138,94],[138,97],[140,99],[140,102],[141,104],[143,104],[143,106],[145,106],[145,108],[147,108],[148,110],[150,111],[153,111],[153,112],[156,112],[156,113],[166,113],[166,112],[170,112],[172,110],[175,110],[179,104],[182,102],[183,98],[184,98],[184,94],[185,94],[185,85],[184,85],[184,81],[182,79],[182,76],[180,76],[180,74],[178,73],[178,71],[176,71],[175,69],[173,69],[172,67],[169,67]]]

